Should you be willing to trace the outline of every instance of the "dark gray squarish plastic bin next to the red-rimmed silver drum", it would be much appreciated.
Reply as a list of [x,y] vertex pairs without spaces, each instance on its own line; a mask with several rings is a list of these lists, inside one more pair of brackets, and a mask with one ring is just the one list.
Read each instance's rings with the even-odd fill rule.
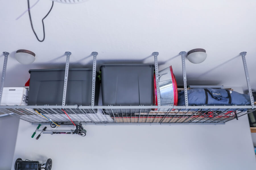
[[103,105],[153,105],[153,64],[100,66]]

